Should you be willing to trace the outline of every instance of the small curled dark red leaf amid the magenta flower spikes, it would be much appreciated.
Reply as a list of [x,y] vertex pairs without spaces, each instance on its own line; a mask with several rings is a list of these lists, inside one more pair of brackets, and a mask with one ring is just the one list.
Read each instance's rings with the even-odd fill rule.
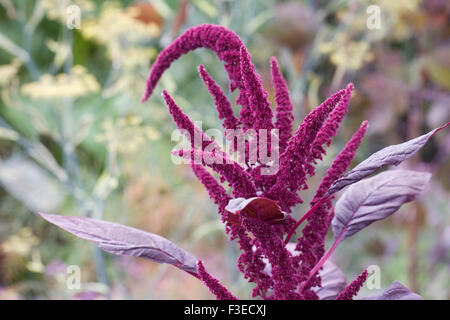
[[270,224],[279,223],[285,218],[285,214],[275,201],[260,197],[231,199],[225,210],[228,213],[229,221],[235,224],[239,224],[240,214],[260,219]]

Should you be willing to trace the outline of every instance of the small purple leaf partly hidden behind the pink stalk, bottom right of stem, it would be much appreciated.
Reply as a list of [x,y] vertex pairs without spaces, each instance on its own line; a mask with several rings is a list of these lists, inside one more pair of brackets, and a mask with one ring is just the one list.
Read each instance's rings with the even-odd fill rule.
[[330,260],[323,264],[319,275],[322,279],[322,286],[314,287],[313,290],[320,300],[334,300],[345,289],[347,284],[345,274]]

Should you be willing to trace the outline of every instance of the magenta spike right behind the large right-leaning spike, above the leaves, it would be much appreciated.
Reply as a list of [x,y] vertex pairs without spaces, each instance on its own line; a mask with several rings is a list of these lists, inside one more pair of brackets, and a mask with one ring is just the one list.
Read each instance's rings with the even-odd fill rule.
[[307,171],[310,176],[315,174],[315,170],[312,164],[316,164],[316,160],[322,160],[322,155],[326,153],[323,145],[328,147],[331,144],[331,139],[333,139],[339,129],[339,125],[344,119],[348,111],[348,105],[350,103],[350,97],[352,95],[353,83],[349,83],[345,89],[342,99],[339,104],[330,113],[327,121],[325,121],[320,131],[317,133],[317,137],[313,142],[311,147],[311,155],[309,158],[309,165],[307,166]]

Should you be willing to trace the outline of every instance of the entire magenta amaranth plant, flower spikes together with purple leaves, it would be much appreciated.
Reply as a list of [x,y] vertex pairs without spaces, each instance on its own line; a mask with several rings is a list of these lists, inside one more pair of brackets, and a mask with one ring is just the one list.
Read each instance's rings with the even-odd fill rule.
[[[234,103],[242,108],[239,116],[235,116],[232,102],[200,65],[200,77],[214,99],[223,127],[226,131],[243,133],[233,138],[233,142],[242,139],[239,141],[242,148],[231,146],[228,152],[222,150],[164,90],[163,98],[169,113],[191,142],[189,150],[174,150],[172,154],[188,160],[195,176],[218,206],[226,233],[230,240],[239,244],[241,253],[237,268],[254,285],[252,297],[353,299],[366,281],[367,271],[343,289],[346,280],[328,259],[341,241],[355,236],[363,228],[386,218],[402,204],[418,197],[431,175],[410,170],[387,170],[371,178],[366,177],[383,166],[398,165],[410,158],[449,124],[405,143],[384,148],[346,172],[366,133],[367,121],[364,121],[327,170],[309,209],[305,210],[307,213],[296,220],[289,213],[295,205],[303,203],[299,192],[308,188],[307,178],[315,174],[316,160],[322,159],[324,146],[329,146],[337,134],[348,110],[353,84],[312,110],[292,134],[293,106],[276,59],[271,59],[276,103],[273,119],[267,92],[243,42],[225,27],[205,24],[188,29],[160,52],[152,65],[142,100],[149,98],[173,61],[197,48],[214,51],[224,62],[230,90],[239,89]],[[257,132],[249,137],[253,134],[251,129]],[[278,130],[278,148],[274,151],[269,149],[278,141],[273,135],[269,135],[266,145],[260,144],[264,139],[259,129]],[[251,148],[255,137],[258,144]],[[250,156],[255,154],[258,157],[264,155],[263,148],[270,150],[271,154],[275,152],[275,157],[266,155],[264,161],[251,159]],[[238,160],[234,160],[234,152],[238,154]],[[219,178],[216,179],[206,167],[216,172]],[[269,173],[265,171],[274,168]],[[335,193],[345,187],[348,188],[334,205]],[[200,279],[217,299],[236,299],[206,271],[200,260],[161,236],[102,220],[41,216],[80,238],[97,243],[112,254],[142,257],[186,271]],[[296,243],[289,243],[303,222],[306,223],[301,236]],[[334,242],[325,252],[325,237],[330,227]],[[394,284],[393,288],[401,288],[403,293],[400,296],[417,298],[399,284]],[[392,297],[389,292],[380,299]]]

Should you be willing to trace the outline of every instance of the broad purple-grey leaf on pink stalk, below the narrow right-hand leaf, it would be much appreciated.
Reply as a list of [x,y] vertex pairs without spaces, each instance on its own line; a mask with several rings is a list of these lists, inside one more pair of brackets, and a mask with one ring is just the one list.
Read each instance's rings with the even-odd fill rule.
[[332,221],[335,241],[352,236],[414,200],[430,177],[426,172],[391,170],[350,186],[335,206]]

